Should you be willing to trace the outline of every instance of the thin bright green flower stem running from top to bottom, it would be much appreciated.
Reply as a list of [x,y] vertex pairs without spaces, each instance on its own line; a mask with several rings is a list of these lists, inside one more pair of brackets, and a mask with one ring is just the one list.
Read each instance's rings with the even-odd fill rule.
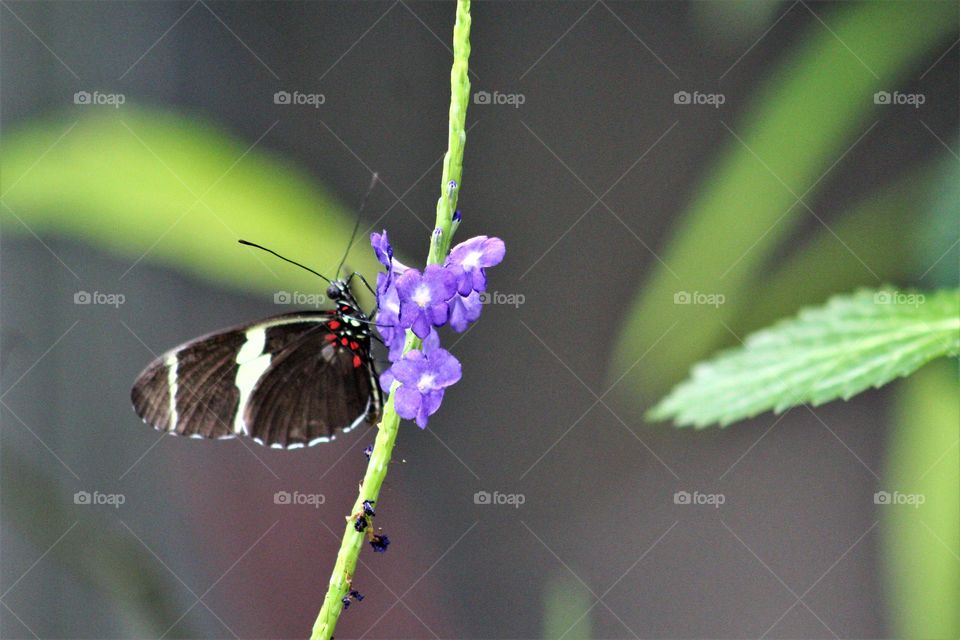
[[[440,186],[440,199],[437,201],[436,230],[430,237],[430,252],[427,264],[442,264],[450,251],[450,243],[456,230],[453,222],[453,213],[457,208],[457,197],[460,193],[461,177],[463,174],[463,149],[466,144],[467,104],[470,99],[470,0],[458,0],[457,17],[453,27],[453,68],[450,72],[450,119],[447,136],[447,153],[443,158],[443,179]],[[404,353],[419,348],[420,340],[407,331],[407,341],[404,344]],[[397,440],[397,430],[400,426],[400,416],[393,406],[393,391],[398,383],[390,389],[390,397],[383,409],[383,418],[377,430],[377,437],[373,444],[373,453],[360,485],[360,492],[354,502],[352,514],[358,514],[363,509],[363,501],[375,502],[380,495],[380,488],[387,476],[390,456],[393,445]],[[377,504],[377,510],[381,505]],[[374,526],[371,521],[370,526]],[[337,562],[330,576],[330,585],[323,599],[323,606],[313,625],[311,640],[330,640],[337,626],[337,620],[343,611],[343,598],[350,592],[353,573],[357,567],[357,559],[365,539],[364,532],[357,531],[353,526],[353,518],[347,522],[337,553]]]

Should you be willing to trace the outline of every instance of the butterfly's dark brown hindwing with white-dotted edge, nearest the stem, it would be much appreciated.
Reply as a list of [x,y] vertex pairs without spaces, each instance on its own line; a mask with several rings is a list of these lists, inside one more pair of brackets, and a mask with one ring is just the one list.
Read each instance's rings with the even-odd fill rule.
[[370,339],[359,331],[341,336],[307,330],[276,355],[246,403],[244,422],[254,440],[275,448],[311,446],[380,419]]

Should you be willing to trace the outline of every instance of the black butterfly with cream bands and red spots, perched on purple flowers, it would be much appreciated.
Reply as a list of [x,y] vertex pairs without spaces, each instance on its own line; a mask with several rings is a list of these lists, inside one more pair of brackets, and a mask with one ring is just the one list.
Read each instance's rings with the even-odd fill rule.
[[336,306],[239,325],[168,351],[134,383],[134,410],[159,431],[246,436],[276,449],[312,446],[362,423],[376,424],[383,392],[371,356],[375,336],[351,289],[354,277],[369,284],[359,274],[329,280],[266,247],[240,242],[320,276]]

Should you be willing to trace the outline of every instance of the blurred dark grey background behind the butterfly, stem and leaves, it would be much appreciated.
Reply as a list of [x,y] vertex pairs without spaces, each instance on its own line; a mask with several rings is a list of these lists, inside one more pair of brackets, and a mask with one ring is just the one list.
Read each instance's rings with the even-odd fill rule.
[[[587,624],[596,638],[891,634],[871,501],[885,392],[703,432],[595,402],[627,303],[731,142],[724,123],[737,122],[784,52],[836,8],[811,3],[815,16],[802,4],[758,3],[730,18],[723,4],[475,3],[473,89],[520,94],[523,104],[471,105],[460,234],[504,238],[491,288],[525,304],[490,306],[450,341],[463,381],[428,431],[403,425],[378,509],[392,545],[362,555],[354,584],[366,599],[345,612],[338,637],[539,638],[551,598],[571,622],[589,608],[567,638]],[[69,109],[85,87],[121,91],[248,144],[269,129],[260,148],[346,203],[359,201],[372,168],[398,195],[409,188],[403,201],[423,221],[433,217],[451,3],[0,5],[5,127]],[[947,140],[958,121],[957,58],[954,48],[916,81],[930,103],[925,123]],[[674,104],[689,87],[722,90],[727,102]],[[326,103],[291,110],[263,99],[295,88]],[[916,131],[881,120],[826,178],[819,214],[829,221],[942,153]],[[620,220],[601,206],[584,214],[611,185],[603,201]],[[375,192],[365,220],[394,204]],[[252,239],[267,242],[270,225],[265,211],[263,237]],[[423,254],[425,229],[405,207],[380,225],[398,251]],[[804,223],[797,241],[815,227]],[[318,222],[315,238],[276,248],[309,264],[322,233]],[[0,636],[149,628],[168,638],[303,637],[372,433],[290,453],[158,440],[128,401],[151,352],[276,313],[271,300],[150,260],[118,283],[129,260],[58,237],[4,234],[0,248]],[[249,268],[263,267],[251,257]],[[78,307],[78,288],[122,291],[129,302]],[[282,490],[325,502],[275,505]],[[721,493],[725,504],[677,505],[681,490]],[[125,502],[75,505],[77,491]],[[525,502],[478,505],[478,491]],[[117,554],[104,556],[104,545]],[[117,557],[128,564],[109,566]],[[151,603],[152,626],[129,619],[131,601]]]

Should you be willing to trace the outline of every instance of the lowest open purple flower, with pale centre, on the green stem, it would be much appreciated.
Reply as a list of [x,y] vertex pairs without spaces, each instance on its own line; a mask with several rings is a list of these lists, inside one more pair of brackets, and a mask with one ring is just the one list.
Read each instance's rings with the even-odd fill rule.
[[[394,392],[397,414],[405,420],[416,420],[427,426],[427,418],[440,408],[443,391],[460,379],[460,362],[445,349],[429,352],[410,351],[384,376],[400,382]],[[382,379],[382,378],[381,378]]]

